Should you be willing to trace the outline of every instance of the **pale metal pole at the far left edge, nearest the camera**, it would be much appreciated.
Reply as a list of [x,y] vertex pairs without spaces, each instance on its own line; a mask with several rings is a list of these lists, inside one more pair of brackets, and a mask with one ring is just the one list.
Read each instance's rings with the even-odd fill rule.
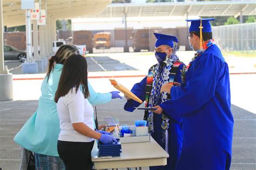
[[0,74],[8,74],[8,71],[4,69],[4,41],[3,41],[3,4],[0,0]]

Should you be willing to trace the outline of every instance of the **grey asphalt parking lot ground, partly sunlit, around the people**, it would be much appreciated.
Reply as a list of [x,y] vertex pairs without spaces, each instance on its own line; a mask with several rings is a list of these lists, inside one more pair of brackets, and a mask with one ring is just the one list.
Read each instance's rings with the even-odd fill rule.
[[[140,55],[140,56],[139,56]],[[132,74],[142,70],[146,73],[152,63],[153,56],[137,54],[100,54],[97,57],[88,56],[90,74],[104,76],[106,73]],[[146,60],[146,62],[144,62]],[[94,61],[93,61],[94,60]],[[18,67],[18,61],[5,61],[8,68]],[[100,67],[102,66],[102,67]],[[122,72],[107,72],[122,71]],[[21,68],[13,69],[13,74],[21,75]],[[90,75],[89,74],[89,75]],[[36,75],[35,75],[36,76]],[[44,75],[42,75],[44,77]],[[256,74],[231,75],[232,112],[234,116],[233,157],[231,169],[256,169],[256,105],[255,81]],[[120,78],[119,82],[131,88],[142,77]],[[96,91],[111,91],[108,79],[90,79]],[[241,83],[244,82],[244,83]],[[246,82],[246,83],[245,83]],[[25,121],[35,112],[40,95],[42,80],[14,81],[15,101],[0,101],[0,168],[15,170],[19,167],[19,146],[14,143],[15,134],[21,129]],[[104,87],[104,88],[103,88]],[[32,98],[32,100],[31,100]],[[104,116],[117,117],[120,124],[134,124],[134,121],[143,118],[143,111],[126,112],[123,110],[123,100],[112,100],[110,103],[97,105],[99,124],[106,124]],[[146,168],[147,169],[147,168]]]

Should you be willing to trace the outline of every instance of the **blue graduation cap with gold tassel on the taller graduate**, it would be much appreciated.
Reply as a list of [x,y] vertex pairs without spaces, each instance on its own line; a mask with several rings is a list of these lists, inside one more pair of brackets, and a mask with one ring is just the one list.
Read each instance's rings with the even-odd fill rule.
[[200,24],[203,27],[202,32],[212,32],[210,20],[215,20],[215,19],[214,18],[186,19],[187,22],[191,22],[189,32],[200,31]]

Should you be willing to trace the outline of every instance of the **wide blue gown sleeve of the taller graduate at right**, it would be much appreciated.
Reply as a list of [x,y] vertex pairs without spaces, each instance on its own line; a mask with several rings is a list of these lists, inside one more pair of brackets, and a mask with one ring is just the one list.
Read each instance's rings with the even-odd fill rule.
[[224,62],[213,54],[202,55],[195,64],[186,86],[171,88],[174,100],[160,104],[166,114],[177,121],[202,107],[214,96],[219,74],[224,66]]

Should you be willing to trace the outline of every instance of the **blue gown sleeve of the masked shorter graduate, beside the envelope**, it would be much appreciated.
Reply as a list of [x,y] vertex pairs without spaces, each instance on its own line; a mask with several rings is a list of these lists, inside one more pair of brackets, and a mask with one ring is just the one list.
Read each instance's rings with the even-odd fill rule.
[[[134,86],[131,89],[131,92],[136,95],[137,97],[140,98],[143,102],[145,101],[146,98],[146,81],[147,77],[144,77],[142,81],[139,83],[134,84]],[[127,102],[124,105],[124,110],[132,112],[134,110],[133,107],[138,107],[141,103],[136,102],[132,99],[127,100]]]

